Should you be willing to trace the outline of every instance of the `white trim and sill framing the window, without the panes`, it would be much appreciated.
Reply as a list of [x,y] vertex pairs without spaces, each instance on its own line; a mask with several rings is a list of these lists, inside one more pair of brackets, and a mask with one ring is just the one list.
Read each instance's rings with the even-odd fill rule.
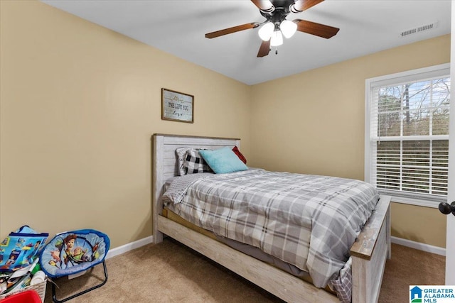
[[[417,70],[408,70],[406,72],[397,72],[391,75],[373,77],[365,80],[365,182],[371,182],[370,173],[373,165],[371,165],[371,103],[373,98],[373,89],[376,87],[386,86],[390,84],[402,84],[407,82],[419,81],[434,77],[450,77],[450,63],[423,67]],[[434,136],[435,138],[437,136]],[[376,167],[376,166],[374,166]],[[428,194],[405,193],[403,196],[397,195],[396,192],[388,191],[387,189],[378,189],[380,194],[392,196],[393,202],[412,204],[417,206],[427,206],[437,208],[439,202],[446,202],[444,196],[430,196]],[[412,196],[412,197],[405,197]]]

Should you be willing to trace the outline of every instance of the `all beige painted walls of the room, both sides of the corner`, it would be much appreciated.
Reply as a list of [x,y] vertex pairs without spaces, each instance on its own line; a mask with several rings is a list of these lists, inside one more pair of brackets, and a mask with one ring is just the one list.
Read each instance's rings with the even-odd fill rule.
[[[443,36],[248,87],[41,2],[0,11],[0,238],[151,236],[153,133],[242,138],[250,165],[363,179],[365,79],[449,62]],[[195,123],[161,120],[161,87],[195,96]],[[393,204],[392,229],[444,246],[436,209]]]

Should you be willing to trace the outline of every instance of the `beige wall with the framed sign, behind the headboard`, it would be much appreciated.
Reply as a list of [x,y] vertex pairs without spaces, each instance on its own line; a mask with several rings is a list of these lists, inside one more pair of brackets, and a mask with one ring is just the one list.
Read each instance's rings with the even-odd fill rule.
[[[242,138],[250,87],[38,1],[0,1],[0,238],[23,224],[151,236],[151,136]],[[195,123],[161,120],[161,87]]]

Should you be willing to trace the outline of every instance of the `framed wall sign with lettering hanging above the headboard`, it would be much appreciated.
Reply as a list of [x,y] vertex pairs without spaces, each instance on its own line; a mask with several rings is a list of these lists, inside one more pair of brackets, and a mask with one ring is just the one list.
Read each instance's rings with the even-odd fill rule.
[[194,96],[161,89],[161,119],[193,123]]

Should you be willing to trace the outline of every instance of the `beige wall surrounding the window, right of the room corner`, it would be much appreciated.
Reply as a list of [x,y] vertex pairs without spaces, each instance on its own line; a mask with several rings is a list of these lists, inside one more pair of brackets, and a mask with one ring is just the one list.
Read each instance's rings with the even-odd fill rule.
[[[365,79],[446,62],[449,35],[255,85],[251,164],[363,180]],[[437,209],[392,206],[392,236],[445,247],[445,222]]]

